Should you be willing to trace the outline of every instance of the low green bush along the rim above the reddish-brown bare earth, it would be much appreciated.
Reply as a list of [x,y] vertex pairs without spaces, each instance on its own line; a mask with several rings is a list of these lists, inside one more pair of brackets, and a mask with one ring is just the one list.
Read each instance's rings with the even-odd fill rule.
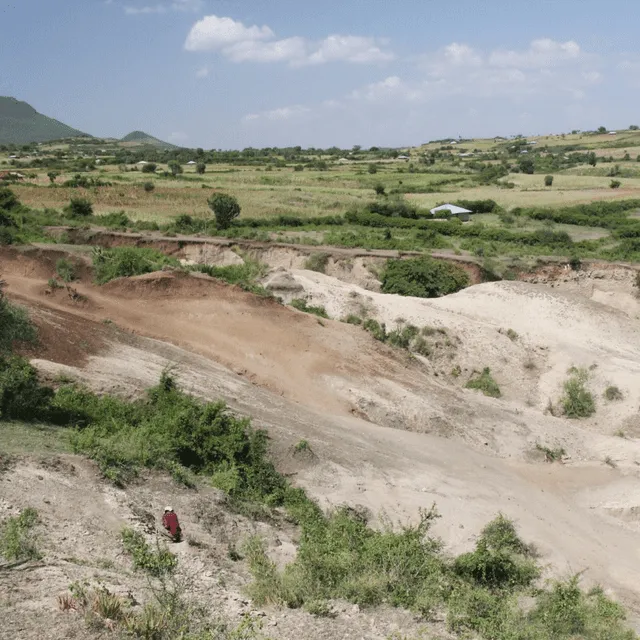
[[105,284],[114,278],[160,271],[164,266],[179,265],[175,258],[149,248],[115,247],[100,249],[93,254],[93,268],[98,284]]

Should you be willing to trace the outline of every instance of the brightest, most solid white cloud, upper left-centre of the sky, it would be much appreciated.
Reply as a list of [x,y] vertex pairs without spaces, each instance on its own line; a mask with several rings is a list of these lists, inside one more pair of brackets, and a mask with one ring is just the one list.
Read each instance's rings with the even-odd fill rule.
[[291,66],[351,62],[365,64],[393,59],[375,38],[331,35],[320,42],[301,36],[277,39],[266,25],[245,26],[228,17],[205,16],[185,42],[187,51],[216,51],[232,62],[288,62]]

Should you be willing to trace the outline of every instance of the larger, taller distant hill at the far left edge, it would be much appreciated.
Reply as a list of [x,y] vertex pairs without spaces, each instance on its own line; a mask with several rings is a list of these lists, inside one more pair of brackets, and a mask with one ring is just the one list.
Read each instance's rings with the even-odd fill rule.
[[86,133],[38,113],[31,105],[0,96],[0,144],[49,142]]

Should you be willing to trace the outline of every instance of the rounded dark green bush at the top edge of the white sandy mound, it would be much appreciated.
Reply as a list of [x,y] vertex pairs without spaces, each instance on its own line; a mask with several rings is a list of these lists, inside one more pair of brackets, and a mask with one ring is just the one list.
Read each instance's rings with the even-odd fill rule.
[[390,260],[382,274],[382,291],[402,296],[437,298],[469,286],[467,272],[433,258]]

